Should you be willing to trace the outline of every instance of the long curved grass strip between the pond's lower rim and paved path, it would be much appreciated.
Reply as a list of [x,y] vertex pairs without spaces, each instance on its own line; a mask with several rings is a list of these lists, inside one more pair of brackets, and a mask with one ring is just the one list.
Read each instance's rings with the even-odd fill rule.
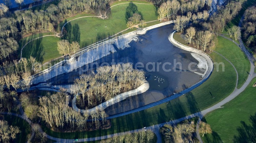
[[[231,41],[227,40],[228,42]],[[48,135],[61,138],[102,136],[163,123],[206,109],[227,97],[233,91],[236,83],[236,74],[230,63],[216,53],[211,53],[210,56],[214,62],[225,64],[225,72],[221,72],[222,66],[219,67],[219,72],[215,68],[205,83],[192,92],[168,102],[168,104],[161,104],[150,109],[111,119],[112,126],[107,130],[79,133],[56,133],[47,128],[43,128],[43,130]],[[212,99],[212,96],[215,98]]]

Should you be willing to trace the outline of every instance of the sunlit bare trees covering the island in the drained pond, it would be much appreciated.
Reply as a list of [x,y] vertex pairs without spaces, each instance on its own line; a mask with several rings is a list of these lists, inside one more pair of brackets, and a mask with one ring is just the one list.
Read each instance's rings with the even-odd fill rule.
[[[130,63],[99,67],[96,73],[81,75],[71,88],[80,100],[81,108],[98,105],[111,97],[140,86],[144,72],[133,69]],[[87,101],[87,102],[86,102]]]

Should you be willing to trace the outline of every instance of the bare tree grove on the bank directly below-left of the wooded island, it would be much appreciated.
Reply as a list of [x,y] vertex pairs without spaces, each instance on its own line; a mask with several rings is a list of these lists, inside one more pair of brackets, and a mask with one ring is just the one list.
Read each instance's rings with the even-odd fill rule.
[[[26,115],[32,121],[41,118],[51,129],[57,131],[83,131],[91,130],[93,127],[99,129],[109,126],[109,122],[106,123],[107,114],[103,108],[98,108],[92,112],[86,110],[81,114],[65,105],[67,96],[65,90],[52,95],[48,93],[39,99],[39,103],[32,102],[33,96],[26,93],[20,95],[20,102]],[[90,119],[89,123],[87,123],[88,119]]]

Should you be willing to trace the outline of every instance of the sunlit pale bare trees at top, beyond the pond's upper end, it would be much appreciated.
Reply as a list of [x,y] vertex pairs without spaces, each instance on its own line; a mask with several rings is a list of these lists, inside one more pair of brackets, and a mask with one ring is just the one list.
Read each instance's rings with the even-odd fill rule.
[[[163,18],[167,17],[168,19],[172,17],[174,20],[175,17],[180,13],[181,15],[185,15],[187,13],[187,17],[179,17],[178,19],[182,19],[183,21],[190,21],[192,18],[192,13],[197,13],[194,15],[195,19],[207,19],[209,14],[207,10],[203,13],[198,12],[202,8],[207,5],[207,7],[211,6],[212,1],[177,1],[177,0],[168,0],[167,2],[162,3],[159,8],[157,9],[158,19],[162,21]],[[208,15],[208,17],[207,17]],[[185,22],[186,23],[186,22]]]

